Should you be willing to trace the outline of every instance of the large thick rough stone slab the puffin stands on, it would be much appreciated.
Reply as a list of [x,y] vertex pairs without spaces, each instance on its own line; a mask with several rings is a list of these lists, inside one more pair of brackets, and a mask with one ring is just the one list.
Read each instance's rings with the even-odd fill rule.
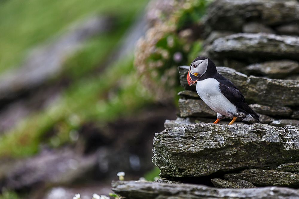
[[299,158],[299,128],[198,123],[156,133],[160,177],[199,177],[244,167],[275,169]]

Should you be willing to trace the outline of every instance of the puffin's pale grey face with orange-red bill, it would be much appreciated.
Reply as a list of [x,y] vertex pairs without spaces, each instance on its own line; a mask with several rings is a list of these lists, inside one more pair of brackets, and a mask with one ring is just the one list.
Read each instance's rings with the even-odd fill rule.
[[190,65],[187,81],[189,86],[196,83],[199,78],[205,74],[208,68],[209,59],[206,57],[197,57],[194,59]]

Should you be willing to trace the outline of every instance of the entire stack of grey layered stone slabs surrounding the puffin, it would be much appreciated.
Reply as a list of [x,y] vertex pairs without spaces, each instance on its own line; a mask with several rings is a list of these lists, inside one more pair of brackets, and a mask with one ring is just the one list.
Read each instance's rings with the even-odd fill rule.
[[218,72],[263,124],[212,124],[216,113],[188,86],[189,66],[181,66],[179,117],[167,120],[153,143],[162,179],[117,181],[113,190],[133,199],[299,198],[298,13],[298,1],[214,1],[201,55],[225,66]]

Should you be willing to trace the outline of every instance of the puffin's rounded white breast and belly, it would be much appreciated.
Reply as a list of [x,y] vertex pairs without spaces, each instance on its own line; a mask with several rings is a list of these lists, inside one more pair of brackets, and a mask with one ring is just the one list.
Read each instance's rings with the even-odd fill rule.
[[213,111],[233,117],[237,115],[237,108],[221,93],[219,84],[214,78],[197,81],[197,94]]

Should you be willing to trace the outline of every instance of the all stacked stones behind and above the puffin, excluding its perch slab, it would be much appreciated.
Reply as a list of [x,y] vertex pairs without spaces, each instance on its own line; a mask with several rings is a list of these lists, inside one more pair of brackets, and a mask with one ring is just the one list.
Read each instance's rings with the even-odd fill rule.
[[[298,13],[298,1],[280,0],[216,0],[208,9],[202,55],[227,67],[217,70],[241,90],[263,124],[299,126]],[[181,118],[165,127],[216,119],[195,85],[187,85],[187,70],[179,67],[186,89],[179,93]]]

